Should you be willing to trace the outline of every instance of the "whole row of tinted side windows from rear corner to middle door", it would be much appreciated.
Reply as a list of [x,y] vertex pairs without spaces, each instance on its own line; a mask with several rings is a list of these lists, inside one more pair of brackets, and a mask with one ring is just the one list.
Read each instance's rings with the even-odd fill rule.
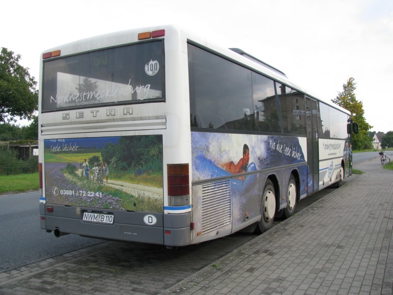
[[191,126],[306,134],[304,95],[188,44]]

